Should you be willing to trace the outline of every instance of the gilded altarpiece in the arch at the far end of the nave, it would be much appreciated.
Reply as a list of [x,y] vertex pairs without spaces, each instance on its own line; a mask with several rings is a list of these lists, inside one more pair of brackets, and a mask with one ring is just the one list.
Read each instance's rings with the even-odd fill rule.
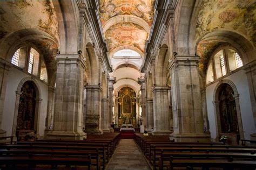
[[118,124],[136,124],[136,93],[130,87],[118,92]]

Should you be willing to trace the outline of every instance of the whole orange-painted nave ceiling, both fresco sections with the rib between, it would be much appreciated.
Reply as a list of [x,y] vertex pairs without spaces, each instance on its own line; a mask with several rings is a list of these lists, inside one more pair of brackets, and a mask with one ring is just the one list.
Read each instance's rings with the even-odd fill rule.
[[[155,0],[100,0],[100,22],[105,28],[110,53],[120,46],[133,46],[144,53],[153,22],[154,2]],[[142,22],[139,22],[140,19]]]

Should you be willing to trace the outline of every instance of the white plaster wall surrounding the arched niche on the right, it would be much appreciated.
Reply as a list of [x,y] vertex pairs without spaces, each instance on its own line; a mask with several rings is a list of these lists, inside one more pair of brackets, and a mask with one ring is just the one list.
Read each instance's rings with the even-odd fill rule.
[[[237,87],[239,94],[239,104],[242,118],[242,128],[244,130],[245,139],[250,139],[250,134],[255,132],[254,121],[253,121],[253,113],[252,113],[252,105],[250,100],[250,92],[248,88],[248,81],[245,70],[239,70],[227,77],[225,79],[232,81]],[[215,139],[217,136],[216,131],[216,120],[215,113],[213,108],[213,96],[214,89],[217,86],[218,82],[211,84],[206,87],[206,101],[207,101],[207,112],[208,112],[208,120],[210,124],[211,138]]]

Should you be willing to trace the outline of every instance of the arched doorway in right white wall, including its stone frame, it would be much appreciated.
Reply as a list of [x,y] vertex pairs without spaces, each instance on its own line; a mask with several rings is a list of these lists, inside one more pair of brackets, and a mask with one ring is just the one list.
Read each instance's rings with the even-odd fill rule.
[[214,91],[217,139],[224,135],[230,144],[237,144],[244,138],[237,88],[230,80],[222,80]]

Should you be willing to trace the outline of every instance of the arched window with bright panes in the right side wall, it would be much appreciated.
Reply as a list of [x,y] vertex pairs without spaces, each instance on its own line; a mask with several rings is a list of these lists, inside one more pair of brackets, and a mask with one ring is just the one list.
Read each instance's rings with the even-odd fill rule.
[[209,61],[206,72],[206,84],[231,73],[233,70],[242,67],[240,55],[230,48],[223,48]]

